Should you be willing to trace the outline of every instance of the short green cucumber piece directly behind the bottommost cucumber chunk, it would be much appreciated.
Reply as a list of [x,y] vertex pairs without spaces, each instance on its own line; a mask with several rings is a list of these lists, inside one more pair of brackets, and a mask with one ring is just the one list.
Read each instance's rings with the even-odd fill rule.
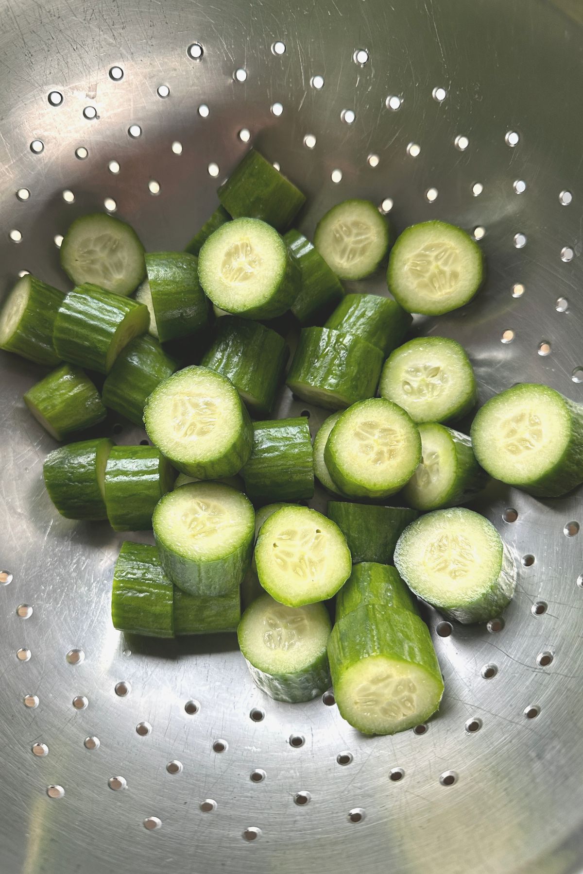
[[417,606],[397,569],[374,561],[353,566],[350,577],[336,596],[336,621],[363,604],[379,604],[417,614]]

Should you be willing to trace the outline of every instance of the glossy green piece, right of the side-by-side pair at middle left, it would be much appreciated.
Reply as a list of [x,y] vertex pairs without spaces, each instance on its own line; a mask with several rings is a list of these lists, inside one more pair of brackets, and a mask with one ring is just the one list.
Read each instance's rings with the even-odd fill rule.
[[148,531],[176,471],[153,446],[115,446],[105,468],[105,504],[114,531]]

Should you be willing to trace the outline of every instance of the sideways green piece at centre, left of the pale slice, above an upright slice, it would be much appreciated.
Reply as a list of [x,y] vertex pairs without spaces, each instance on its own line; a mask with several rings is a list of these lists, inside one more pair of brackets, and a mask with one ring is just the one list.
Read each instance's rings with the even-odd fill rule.
[[286,381],[298,398],[338,410],[372,397],[382,365],[382,352],[356,336],[303,328]]

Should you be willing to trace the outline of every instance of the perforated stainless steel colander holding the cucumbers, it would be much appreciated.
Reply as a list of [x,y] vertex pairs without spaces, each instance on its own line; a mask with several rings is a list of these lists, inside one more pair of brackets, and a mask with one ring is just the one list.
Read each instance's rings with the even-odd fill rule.
[[[85,212],[183,247],[253,143],[307,192],[309,236],[350,197],[472,232],[485,287],[414,329],[463,343],[481,403],[521,380],[581,402],[582,24],[576,0],[2,0],[3,293],[68,288]],[[489,490],[516,597],[488,626],[430,614],[439,716],[366,738],[331,692],[265,697],[233,635],[115,632],[123,536],[57,517],[22,402],[39,371],[2,366],[2,874],[582,870],[580,493]],[[304,409],[315,432],[282,393]]]

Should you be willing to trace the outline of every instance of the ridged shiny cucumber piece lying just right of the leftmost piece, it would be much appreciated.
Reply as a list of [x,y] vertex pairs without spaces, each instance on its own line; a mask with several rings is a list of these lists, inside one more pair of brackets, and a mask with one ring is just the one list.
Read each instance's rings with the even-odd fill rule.
[[64,361],[108,373],[123,347],[148,326],[144,304],[86,283],[73,288],[61,303],[53,342]]

